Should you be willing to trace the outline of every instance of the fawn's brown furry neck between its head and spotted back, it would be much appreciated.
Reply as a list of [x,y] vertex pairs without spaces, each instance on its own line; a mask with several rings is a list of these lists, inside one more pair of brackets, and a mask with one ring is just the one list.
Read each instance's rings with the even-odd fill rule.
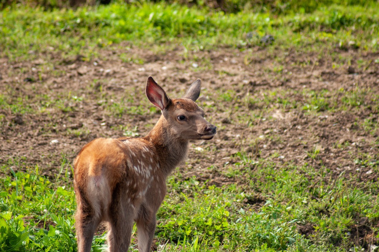
[[168,127],[163,115],[144,138],[155,146],[160,169],[165,176],[168,176],[187,156],[188,140],[179,139],[178,135]]

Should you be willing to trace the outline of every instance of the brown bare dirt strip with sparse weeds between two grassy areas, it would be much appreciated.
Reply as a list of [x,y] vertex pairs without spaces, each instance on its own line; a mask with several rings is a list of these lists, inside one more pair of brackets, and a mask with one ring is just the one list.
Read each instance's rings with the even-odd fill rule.
[[[222,49],[190,52],[187,59],[180,48],[167,52],[125,48],[104,49],[91,61],[81,60],[80,55],[62,59],[53,53],[23,62],[11,63],[1,58],[0,92],[25,104],[31,103],[32,109],[38,110],[38,104],[46,109],[23,114],[0,107],[0,114],[4,115],[0,129],[0,165],[9,163],[18,170],[12,160],[24,157],[26,165],[38,164],[42,174],[54,176],[60,172],[62,159],[72,162],[81,146],[90,140],[121,137],[123,130],[118,125],[128,129],[137,126],[140,135],[147,134],[158,120],[158,112],[124,113],[118,117],[99,100],[117,103],[128,93],[143,106],[152,107],[144,95],[146,79],[151,75],[171,97],[183,94],[192,81],[202,79],[204,91],[199,104],[204,106],[206,118],[218,126],[213,140],[191,142],[189,159],[180,166],[183,177],[196,176],[215,185],[238,182],[221,171],[238,160],[233,154],[242,151],[252,157],[270,158],[278,165],[284,162],[299,166],[310,163],[316,168],[324,165],[336,176],[359,174],[362,180],[377,180],[378,175],[369,167],[354,161],[362,153],[371,157],[378,153],[379,147],[373,145],[378,132],[369,134],[357,125],[357,121],[367,118],[377,122],[376,101],[366,99],[363,109],[312,113],[302,109],[306,101],[301,92],[318,93],[326,89],[338,95],[342,89],[343,92],[369,89],[370,94],[377,95],[379,64],[374,60],[379,54],[337,51],[340,57],[351,59],[348,68],[347,64],[335,67],[332,56],[322,53]],[[119,57],[122,53],[138,57],[144,63],[122,61]],[[371,63],[362,67],[358,59]],[[278,67],[280,70],[276,71]],[[297,108],[245,102],[248,96],[255,95],[259,100],[273,90],[287,93],[283,97],[293,99]],[[220,100],[218,96],[222,93],[229,93],[232,100]],[[83,100],[75,103],[72,96]],[[68,111],[46,105],[59,99]],[[259,113],[260,117],[248,124],[251,115]],[[79,133],[67,133],[73,131]],[[343,148],[337,146],[345,143]],[[307,153],[314,149],[319,154],[310,159]],[[213,168],[205,169],[210,166]]]

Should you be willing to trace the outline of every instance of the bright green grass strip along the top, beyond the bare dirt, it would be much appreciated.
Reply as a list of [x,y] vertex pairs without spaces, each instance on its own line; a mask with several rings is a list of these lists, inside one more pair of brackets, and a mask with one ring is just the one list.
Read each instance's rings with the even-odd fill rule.
[[[225,14],[207,8],[148,3],[83,7],[77,10],[11,8],[0,12],[0,48],[10,59],[60,52],[63,58],[96,57],[98,49],[122,41],[134,45],[177,42],[204,50],[213,45],[247,48],[266,46],[260,39],[274,36],[272,46],[283,48],[379,46],[379,4],[319,6],[309,13],[272,14],[241,11]],[[138,58],[120,56],[124,61]]]

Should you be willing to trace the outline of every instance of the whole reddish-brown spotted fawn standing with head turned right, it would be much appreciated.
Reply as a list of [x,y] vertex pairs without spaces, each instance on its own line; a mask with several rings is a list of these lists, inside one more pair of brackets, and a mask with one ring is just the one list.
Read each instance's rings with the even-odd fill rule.
[[149,134],[97,138],[80,150],[74,161],[79,252],[91,250],[102,221],[108,222],[109,251],[128,250],[134,222],[139,251],[150,251],[166,177],[185,159],[188,140],[210,140],[216,134],[216,126],[194,102],[199,95],[200,79],[183,98],[170,99],[150,76],[146,96],[162,115]]

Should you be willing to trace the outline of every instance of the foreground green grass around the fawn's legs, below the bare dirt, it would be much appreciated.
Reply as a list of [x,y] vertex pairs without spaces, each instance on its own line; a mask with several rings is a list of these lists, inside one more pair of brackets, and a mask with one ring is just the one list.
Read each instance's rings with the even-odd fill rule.
[[[245,177],[241,185],[177,181],[179,171],[168,180],[169,194],[158,211],[156,231],[165,251],[332,251],[331,244],[349,249],[347,232],[354,223],[363,217],[379,220],[379,188],[374,189],[374,182],[351,186],[342,176],[332,179],[325,167],[279,167],[244,154],[238,157],[240,162],[229,164],[235,166],[229,176]],[[368,161],[357,162],[377,170],[372,157],[362,158]],[[23,167],[22,160],[13,163]],[[65,159],[62,167],[55,179],[39,175],[38,166],[17,173],[2,167],[8,174],[1,177],[2,251],[75,251],[72,170]],[[265,195],[256,201],[260,203],[254,203],[257,192]],[[308,239],[298,232],[307,223],[313,230]],[[104,241],[96,236],[94,251],[101,251]]]

